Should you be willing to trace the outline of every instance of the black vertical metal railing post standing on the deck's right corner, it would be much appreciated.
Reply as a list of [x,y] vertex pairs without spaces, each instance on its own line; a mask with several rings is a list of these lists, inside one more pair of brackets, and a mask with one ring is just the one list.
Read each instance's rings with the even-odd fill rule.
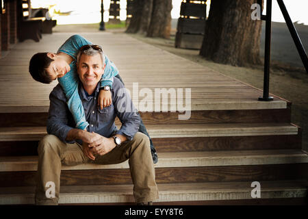
[[259,97],[259,101],[272,101],[269,95],[270,87],[270,38],[272,34],[272,0],[266,1],[266,39],[264,52],[264,88],[263,96]]

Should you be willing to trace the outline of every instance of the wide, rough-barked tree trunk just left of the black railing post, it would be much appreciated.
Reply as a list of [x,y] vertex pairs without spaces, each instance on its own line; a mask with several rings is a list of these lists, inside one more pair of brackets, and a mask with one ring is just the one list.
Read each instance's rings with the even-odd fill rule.
[[200,55],[234,66],[261,64],[262,21],[251,19],[255,0],[212,0]]

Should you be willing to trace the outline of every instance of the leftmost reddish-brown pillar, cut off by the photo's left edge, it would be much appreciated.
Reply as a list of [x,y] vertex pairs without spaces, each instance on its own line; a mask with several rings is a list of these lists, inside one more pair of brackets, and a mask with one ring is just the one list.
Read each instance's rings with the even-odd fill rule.
[[10,5],[5,1],[5,13],[1,14],[1,49],[8,51],[10,44]]

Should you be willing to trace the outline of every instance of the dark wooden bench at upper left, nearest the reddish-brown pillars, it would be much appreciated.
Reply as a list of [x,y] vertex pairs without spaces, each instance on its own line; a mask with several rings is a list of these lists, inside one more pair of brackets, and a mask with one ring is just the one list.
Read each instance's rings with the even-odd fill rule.
[[31,39],[36,42],[42,38],[42,23],[45,18],[31,18],[31,6],[27,0],[18,0],[17,5],[18,30],[17,36],[20,42]]

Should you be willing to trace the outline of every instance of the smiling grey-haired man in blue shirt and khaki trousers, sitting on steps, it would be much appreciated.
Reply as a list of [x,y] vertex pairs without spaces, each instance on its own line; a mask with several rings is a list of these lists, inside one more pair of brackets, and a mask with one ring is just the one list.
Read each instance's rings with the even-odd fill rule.
[[[119,79],[114,78],[112,105],[103,110],[97,106],[99,81],[105,68],[103,59],[103,51],[91,45],[81,47],[77,55],[79,95],[90,123],[87,131],[73,128],[74,120],[59,84],[49,96],[49,135],[38,146],[37,205],[57,205],[61,164],[117,164],[126,159],[129,159],[136,203],[151,205],[158,198],[149,138],[137,132],[140,117]],[[120,130],[114,124],[116,116],[122,123]],[[49,182],[55,184],[54,198],[45,194]]]

